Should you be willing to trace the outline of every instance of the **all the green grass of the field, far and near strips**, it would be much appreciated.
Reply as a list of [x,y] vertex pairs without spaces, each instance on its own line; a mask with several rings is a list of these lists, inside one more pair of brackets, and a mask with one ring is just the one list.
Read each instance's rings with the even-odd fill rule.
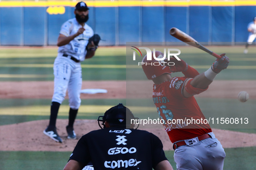
[[[204,72],[214,62],[214,57],[194,47],[175,47],[181,49],[180,58],[193,66],[198,72]],[[217,80],[256,80],[256,49],[249,48],[248,54],[243,54],[244,47],[213,46],[209,49],[217,54],[227,53],[230,57],[230,66]],[[130,47],[127,47],[130,50]],[[0,48],[0,82],[6,81],[53,81],[53,62],[57,55],[55,47],[6,47]],[[82,63],[83,80],[146,80],[142,69],[127,65],[130,56],[126,57],[126,47],[100,47],[96,56]],[[141,59],[140,59],[141,60]],[[128,61],[128,62],[127,62]],[[175,73],[179,76],[179,73]],[[0,91],[1,92],[1,91]],[[83,99],[78,119],[97,119],[106,108],[126,99]],[[145,114],[139,112],[141,104],[148,107],[147,101],[134,100],[133,113],[143,118]],[[214,105],[212,104],[214,102]],[[235,103],[235,99],[202,99],[198,104],[203,113],[223,116],[219,110],[225,110],[225,116],[233,113],[252,116],[250,122],[254,124],[253,114],[256,110],[255,99],[246,103]],[[6,99],[0,98],[0,125],[21,123],[33,120],[48,120],[51,99]],[[217,107],[216,107],[217,106]],[[91,108],[97,108],[93,112]],[[136,110],[137,109],[137,110]],[[67,119],[68,101],[65,100],[58,114],[58,119]],[[88,111],[90,110],[90,111]],[[220,115],[218,115],[220,113]],[[250,114],[249,114],[250,113]],[[152,113],[157,117],[156,113]],[[230,129],[241,132],[256,133],[256,128],[237,126]],[[14,137],[15,138],[15,137]],[[238,136],[239,138],[239,136]],[[1,138],[2,139],[2,138]],[[230,142],[236,139],[230,139]],[[256,147],[225,149],[225,170],[255,170]],[[175,169],[173,151],[165,151],[169,161]],[[61,170],[68,161],[71,152],[31,152],[31,151],[0,151],[0,169],[2,170]]]

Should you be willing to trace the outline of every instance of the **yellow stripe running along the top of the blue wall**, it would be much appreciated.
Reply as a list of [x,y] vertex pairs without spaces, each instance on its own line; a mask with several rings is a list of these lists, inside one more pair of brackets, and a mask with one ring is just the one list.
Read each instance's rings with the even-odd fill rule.
[[[78,1],[0,1],[0,7],[71,6]],[[87,6],[256,6],[256,0],[88,0]]]

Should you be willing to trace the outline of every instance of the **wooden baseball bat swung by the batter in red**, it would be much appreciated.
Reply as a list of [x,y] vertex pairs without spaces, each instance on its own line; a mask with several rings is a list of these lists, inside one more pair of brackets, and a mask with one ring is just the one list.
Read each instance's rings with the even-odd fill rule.
[[211,54],[212,56],[216,57],[216,58],[221,58],[220,55],[214,53],[213,51],[205,48],[203,45],[199,44],[198,41],[196,41],[194,38],[192,38],[191,36],[187,35],[185,32],[182,32],[181,30],[179,30],[178,28],[171,28],[170,29],[170,35],[172,35],[173,37],[179,39],[180,41],[183,41],[191,46],[197,47],[201,50],[204,50],[205,52],[207,52],[208,54]]

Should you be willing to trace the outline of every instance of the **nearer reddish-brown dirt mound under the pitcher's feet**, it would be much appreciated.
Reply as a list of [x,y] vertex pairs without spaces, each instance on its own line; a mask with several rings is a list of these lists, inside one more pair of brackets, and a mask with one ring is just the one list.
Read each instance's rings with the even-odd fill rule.
[[[82,135],[100,129],[97,120],[76,120],[75,132],[78,139],[67,139],[65,130],[68,120],[57,120],[58,134],[63,143],[58,143],[43,134],[49,120],[37,120],[0,126],[0,151],[73,151]],[[164,150],[172,150],[172,143],[164,129],[144,129],[157,135]],[[256,134],[213,129],[224,148],[256,146]],[[239,136],[239,138],[237,137]]]

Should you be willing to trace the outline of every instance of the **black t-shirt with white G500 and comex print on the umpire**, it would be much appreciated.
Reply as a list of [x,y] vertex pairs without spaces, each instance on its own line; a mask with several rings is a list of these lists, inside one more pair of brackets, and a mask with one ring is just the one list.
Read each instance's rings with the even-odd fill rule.
[[161,140],[154,134],[138,129],[105,128],[83,135],[69,160],[95,170],[152,170],[167,160]]

